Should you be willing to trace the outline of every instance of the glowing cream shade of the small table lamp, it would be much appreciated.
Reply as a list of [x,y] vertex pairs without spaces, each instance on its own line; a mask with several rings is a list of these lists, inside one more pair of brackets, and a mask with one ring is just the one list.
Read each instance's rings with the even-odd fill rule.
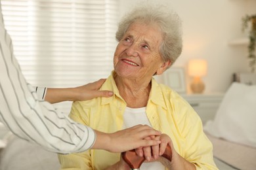
[[188,75],[205,76],[207,73],[207,62],[204,59],[191,59],[188,61]]

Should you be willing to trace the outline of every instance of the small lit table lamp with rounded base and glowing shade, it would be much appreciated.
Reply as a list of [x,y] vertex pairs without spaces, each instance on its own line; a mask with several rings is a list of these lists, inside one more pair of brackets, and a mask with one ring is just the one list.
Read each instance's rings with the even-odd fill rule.
[[201,80],[207,73],[207,62],[204,59],[191,59],[188,61],[188,75],[193,76],[190,88],[193,93],[202,93],[205,85]]

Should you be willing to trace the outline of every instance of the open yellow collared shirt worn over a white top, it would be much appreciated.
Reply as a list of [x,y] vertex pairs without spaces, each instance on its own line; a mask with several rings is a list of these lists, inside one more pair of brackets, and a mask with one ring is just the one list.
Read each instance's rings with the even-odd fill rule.
[[[119,95],[113,73],[100,90],[112,90],[112,97],[75,101],[70,118],[98,131],[112,133],[123,127],[126,103]],[[213,146],[203,133],[202,121],[190,105],[169,87],[152,78],[146,115],[154,129],[171,137],[175,150],[197,169],[217,169]],[[120,154],[105,150],[88,150],[78,154],[59,154],[62,169],[105,169],[119,161]]]

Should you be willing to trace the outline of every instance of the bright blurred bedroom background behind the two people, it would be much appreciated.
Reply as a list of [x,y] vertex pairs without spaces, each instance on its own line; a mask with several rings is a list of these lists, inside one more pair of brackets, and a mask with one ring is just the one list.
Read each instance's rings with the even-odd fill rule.
[[[152,78],[198,114],[218,169],[255,169],[255,0],[0,2],[22,74],[31,86],[47,88],[74,88],[109,78],[119,20],[142,2],[170,7],[181,20],[182,51]],[[53,105],[68,116],[72,103]],[[60,169],[60,163],[56,153],[16,137],[0,122],[0,170],[13,169]]]

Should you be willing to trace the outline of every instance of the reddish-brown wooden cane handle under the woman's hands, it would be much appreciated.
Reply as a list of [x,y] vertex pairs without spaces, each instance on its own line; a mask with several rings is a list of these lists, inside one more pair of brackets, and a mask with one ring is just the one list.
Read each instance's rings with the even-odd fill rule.
[[[161,156],[171,161],[171,154],[172,154],[171,147],[167,145],[167,147],[165,148],[165,152]],[[127,152],[123,152],[121,156],[123,157],[123,160],[129,165],[131,170],[139,170],[140,165],[145,160],[144,157],[137,156],[135,150],[129,150]]]

